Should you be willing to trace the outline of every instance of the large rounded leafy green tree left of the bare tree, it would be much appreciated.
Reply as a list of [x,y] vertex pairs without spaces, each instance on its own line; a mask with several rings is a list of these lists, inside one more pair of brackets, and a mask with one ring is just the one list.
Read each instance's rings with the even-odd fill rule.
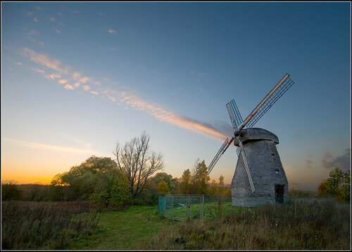
[[91,199],[104,206],[114,205],[114,200],[125,203],[127,181],[111,158],[92,156],[70,171],[55,175],[51,196],[54,200]]

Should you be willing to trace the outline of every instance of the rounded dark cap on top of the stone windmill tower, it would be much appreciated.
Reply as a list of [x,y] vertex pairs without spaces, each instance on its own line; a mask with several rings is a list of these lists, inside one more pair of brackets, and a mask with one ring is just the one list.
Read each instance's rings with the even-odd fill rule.
[[[279,143],[279,138],[277,138],[274,133],[271,133],[264,128],[246,128],[241,131],[240,135],[243,143],[252,140],[270,140],[275,142],[275,145]],[[238,138],[235,138],[234,145],[239,146]]]

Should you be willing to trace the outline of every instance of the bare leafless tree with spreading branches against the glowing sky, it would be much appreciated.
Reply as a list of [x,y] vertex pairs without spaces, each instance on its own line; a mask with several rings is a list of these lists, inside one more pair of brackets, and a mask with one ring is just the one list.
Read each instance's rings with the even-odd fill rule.
[[133,138],[123,147],[118,142],[113,152],[118,168],[130,180],[133,198],[142,192],[147,178],[163,168],[163,157],[150,150],[149,139],[150,136],[143,132],[140,138]]

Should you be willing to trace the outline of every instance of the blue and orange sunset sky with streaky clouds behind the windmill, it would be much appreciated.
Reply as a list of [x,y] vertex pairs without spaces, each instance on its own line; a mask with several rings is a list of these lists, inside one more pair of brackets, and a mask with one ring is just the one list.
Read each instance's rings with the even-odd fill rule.
[[227,102],[245,119],[287,73],[255,127],[314,191],[351,169],[351,3],[1,2],[1,180],[50,183],[144,131],[180,178],[232,137]]

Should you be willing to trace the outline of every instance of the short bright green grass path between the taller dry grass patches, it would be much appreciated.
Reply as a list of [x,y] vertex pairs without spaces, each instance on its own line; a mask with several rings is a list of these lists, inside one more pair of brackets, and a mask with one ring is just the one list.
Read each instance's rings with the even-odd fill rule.
[[98,213],[92,236],[79,237],[68,249],[142,249],[146,242],[177,221],[163,218],[156,206],[131,206],[123,211]]

